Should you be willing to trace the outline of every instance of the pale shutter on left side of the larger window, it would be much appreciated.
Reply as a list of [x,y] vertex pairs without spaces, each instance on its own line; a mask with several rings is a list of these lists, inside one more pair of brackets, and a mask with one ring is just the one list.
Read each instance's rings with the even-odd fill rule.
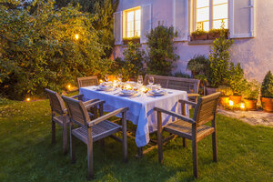
[[175,41],[187,41],[188,38],[188,7],[187,0],[173,0],[174,28],[177,32]]

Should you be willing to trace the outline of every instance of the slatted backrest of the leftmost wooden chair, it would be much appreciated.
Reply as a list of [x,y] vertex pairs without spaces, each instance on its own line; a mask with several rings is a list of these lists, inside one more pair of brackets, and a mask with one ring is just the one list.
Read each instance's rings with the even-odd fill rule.
[[55,111],[57,114],[62,115],[65,113],[65,105],[61,96],[58,93],[45,88],[50,101],[51,111]]

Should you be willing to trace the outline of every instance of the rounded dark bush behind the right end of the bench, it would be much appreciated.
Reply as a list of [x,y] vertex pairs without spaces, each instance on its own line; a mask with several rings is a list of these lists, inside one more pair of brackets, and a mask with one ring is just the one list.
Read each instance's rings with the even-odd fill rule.
[[190,70],[193,76],[198,74],[207,75],[209,73],[209,61],[204,55],[196,55],[187,63],[187,69]]

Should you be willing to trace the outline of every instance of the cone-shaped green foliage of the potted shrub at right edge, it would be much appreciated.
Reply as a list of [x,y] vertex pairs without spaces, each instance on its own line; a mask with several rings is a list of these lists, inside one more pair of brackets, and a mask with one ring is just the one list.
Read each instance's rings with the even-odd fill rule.
[[273,98],[273,76],[268,71],[261,86],[261,96]]

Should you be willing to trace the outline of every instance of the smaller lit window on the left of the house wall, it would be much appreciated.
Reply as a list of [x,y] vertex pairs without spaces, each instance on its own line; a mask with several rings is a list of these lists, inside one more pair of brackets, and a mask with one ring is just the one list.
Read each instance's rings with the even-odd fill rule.
[[140,36],[140,7],[124,12],[124,35],[123,37]]

